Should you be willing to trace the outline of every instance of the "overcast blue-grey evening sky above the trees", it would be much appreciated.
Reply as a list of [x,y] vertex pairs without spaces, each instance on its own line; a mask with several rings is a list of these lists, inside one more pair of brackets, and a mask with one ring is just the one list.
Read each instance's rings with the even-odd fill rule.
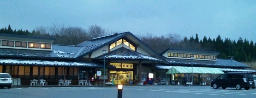
[[0,28],[98,25],[134,35],[256,42],[256,0],[0,0]]

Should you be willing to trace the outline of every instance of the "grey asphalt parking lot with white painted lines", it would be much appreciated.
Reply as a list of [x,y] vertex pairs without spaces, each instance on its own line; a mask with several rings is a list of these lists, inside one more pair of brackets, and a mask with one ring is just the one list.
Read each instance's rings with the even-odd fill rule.
[[[117,87],[12,87],[1,98],[116,98]],[[124,86],[122,98],[255,98],[256,89],[213,89],[210,86]]]

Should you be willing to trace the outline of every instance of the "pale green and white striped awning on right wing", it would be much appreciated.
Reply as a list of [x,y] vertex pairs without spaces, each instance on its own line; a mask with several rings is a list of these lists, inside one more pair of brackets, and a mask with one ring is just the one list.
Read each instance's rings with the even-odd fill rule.
[[[192,73],[192,68],[173,66],[166,72],[166,74],[174,74],[174,73]],[[222,74],[224,72],[221,71],[220,68],[193,67],[193,73]]]

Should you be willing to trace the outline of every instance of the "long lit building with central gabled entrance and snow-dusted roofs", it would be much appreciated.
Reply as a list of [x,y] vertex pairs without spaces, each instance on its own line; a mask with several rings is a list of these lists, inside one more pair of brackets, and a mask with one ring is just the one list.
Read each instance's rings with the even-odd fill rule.
[[[62,79],[72,80],[72,85],[80,84],[79,80],[87,84],[105,81],[142,85],[162,83],[162,79],[166,84],[168,75],[179,74],[168,73],[174,72],[169,71],[172,66],[182,69],[193,63],[194,67],[207,67],[201,68],[204,70],[226,68],[225,71],[249,67],[235,60],[217,59],[218,52],[167,49],[157,54],[130,32],[93,38],[77,46],[56,45],[54,41],[53,38],[0,34],[0,72],[19,78],[18,84],[22,85],[30,85],[33,79],[45,79],[48,85],[63,84],[59,82]],[[151,81],[148,73],[153,73]]]

